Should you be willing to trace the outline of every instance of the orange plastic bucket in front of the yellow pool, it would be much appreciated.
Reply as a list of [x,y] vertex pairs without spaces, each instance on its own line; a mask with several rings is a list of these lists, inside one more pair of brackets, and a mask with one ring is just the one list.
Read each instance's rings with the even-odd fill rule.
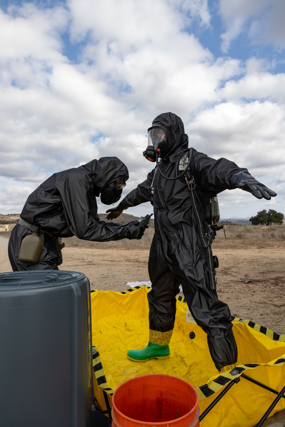
[[198,427],[198,395],[170,375],[144,375],[118,386],[112,398],[112,427]]

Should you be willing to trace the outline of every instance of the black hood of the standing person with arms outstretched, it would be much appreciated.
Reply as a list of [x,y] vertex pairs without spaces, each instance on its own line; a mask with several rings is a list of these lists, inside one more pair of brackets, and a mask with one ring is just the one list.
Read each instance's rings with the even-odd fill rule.
[[152,123],[152,127],[158,126],[165,131],[167,137],[167,148],[160,153],[164,159],[179,150],[188,149],[188,135],[184,132],[184,125],[180,117],[173,113],[162,113]]

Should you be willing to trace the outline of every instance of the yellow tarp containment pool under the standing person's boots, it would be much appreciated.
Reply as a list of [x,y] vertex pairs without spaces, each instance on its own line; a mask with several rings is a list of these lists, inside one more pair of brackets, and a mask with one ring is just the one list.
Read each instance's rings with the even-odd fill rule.
[[[103,409],[114,390],[124,381],[139,375],[168,374],[182,378],[196,387],[200,413],[217,397],[230,380],[241,373],[280,391],[285,385],[285,337],[249,321],[233,321],[238,345],[239,374],[220,375],[211,359],[207,335],[195,323],[186,322],[187,305],[177,301],[176,321],[170,342],[170,359],[138,363],[126,352],[148,343],[148,302],[146,287],[126,292],[91,293],[92,341],[98,350],[94,361],[94,394]],[[259,330],[263,331],[260,332]],[[195,338],[190,339],[189,333]],[[265,334],[266,333],[266,334]],[[273,339],[274,338],[274,339]],[[101,365],[102,363],[102,365]],[[246,365],[246,366],[245,366]],[[201,427],[252,427],[276,397],[273,393],[240,378],[201,421]],[[285,408],[281,398],[274,412]]]

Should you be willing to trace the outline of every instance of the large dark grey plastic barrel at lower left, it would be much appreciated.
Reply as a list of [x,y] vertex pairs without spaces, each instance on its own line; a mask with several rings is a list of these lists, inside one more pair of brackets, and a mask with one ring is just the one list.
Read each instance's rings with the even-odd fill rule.
[[83,273],[0,274],[0,426],[91,426],[90,285]]

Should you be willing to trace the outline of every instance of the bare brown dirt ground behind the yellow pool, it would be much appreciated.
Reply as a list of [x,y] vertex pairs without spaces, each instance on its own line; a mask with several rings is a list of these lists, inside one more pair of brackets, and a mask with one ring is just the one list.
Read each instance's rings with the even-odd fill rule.
[[[11,271],[8,239],[0,237],[0,272]],[[62,270],[84,272],[91,289],[122,291],[123,282],[147,281],[149,249],[82,248],[63,249]],[[214,242],[219,258],[217,292],[229,304],[232,315],[250,319],[285,335],[285,248],[274,241],[256,246],[243,242]]]

